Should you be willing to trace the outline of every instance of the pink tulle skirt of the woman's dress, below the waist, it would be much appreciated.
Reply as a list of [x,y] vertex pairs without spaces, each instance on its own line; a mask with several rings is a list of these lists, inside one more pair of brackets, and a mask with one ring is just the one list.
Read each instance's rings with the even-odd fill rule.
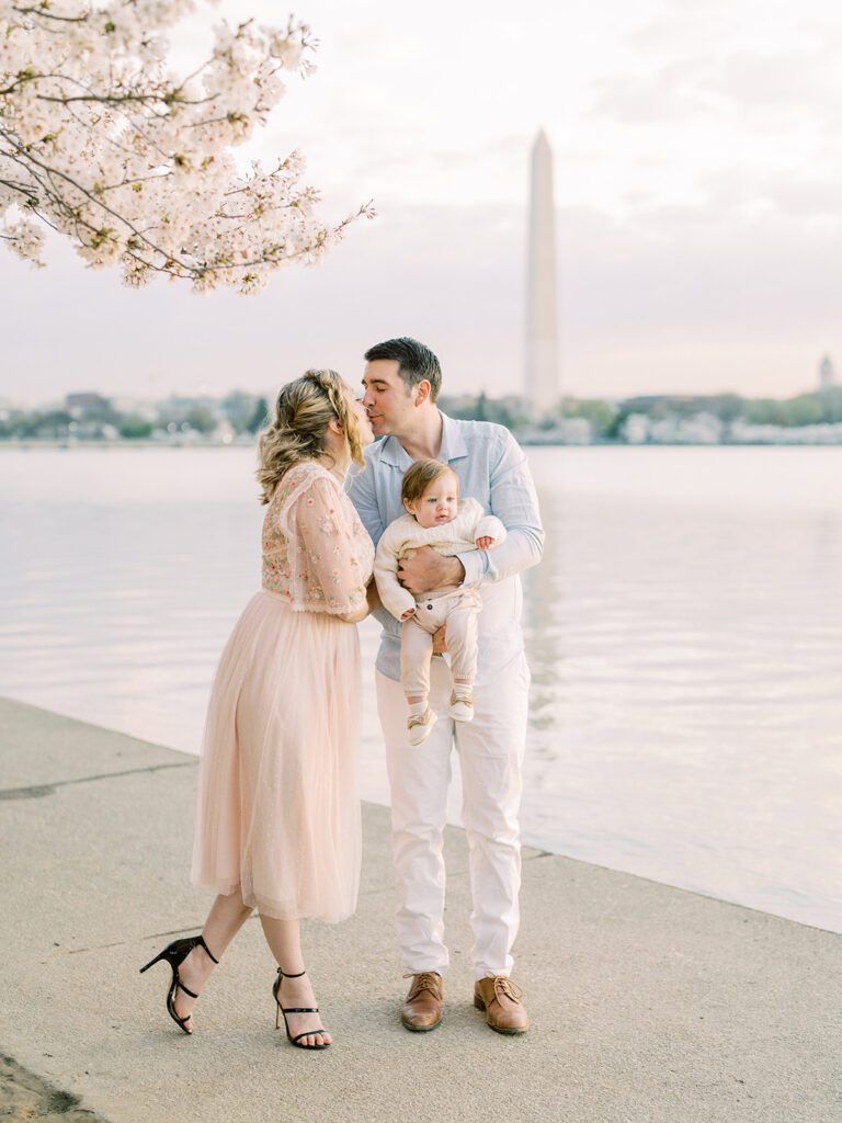
[[239,887],[267,916],[337,922],[357,903],[361,849],[355,624],[265,590],[217,669],[200,765],[192,880]]

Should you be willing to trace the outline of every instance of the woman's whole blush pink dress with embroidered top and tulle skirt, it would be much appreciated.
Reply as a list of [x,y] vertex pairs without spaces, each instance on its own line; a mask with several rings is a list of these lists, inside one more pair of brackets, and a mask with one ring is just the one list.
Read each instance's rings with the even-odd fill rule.
[[204,730],[192,880],[267,916],[340,921],[357,903],[360,665],[340,614],[374,547],[341,484],[303,462],[263,530],[263,588],[222,652]]

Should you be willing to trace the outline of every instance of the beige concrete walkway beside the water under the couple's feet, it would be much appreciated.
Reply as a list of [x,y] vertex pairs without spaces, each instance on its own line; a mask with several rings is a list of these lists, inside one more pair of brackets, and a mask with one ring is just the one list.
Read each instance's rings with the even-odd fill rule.
[[166,968],[138,967],[209,903],[187,886],[195,760],[2,701],[0,746],[0,1052],[52,1086],[56,1119],[79,1097],[73,1119],[108,1123],[842,1120],[842,938],[528,851],[516,978],[533,1029],[501,1037],[470,1002],[456,829],[449,1004],[434,1033],[408,1033],[388,812],[373,805],[357,915],[305,933],[333,1048],[274,1031],[256,920],[184,1037]]

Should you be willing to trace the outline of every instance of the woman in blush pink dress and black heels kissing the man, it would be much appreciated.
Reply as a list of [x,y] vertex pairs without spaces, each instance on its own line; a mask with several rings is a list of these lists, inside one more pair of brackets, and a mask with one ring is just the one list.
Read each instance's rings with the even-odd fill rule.
[[141,968],[170,964],[167,1010],[185,1033],[194,999],[257,909],[278,964],[276,1026],[283,1014],[293,1044],[331,1043],[299,920],[337,922],[357,901],[354,626],[369,611],[374,547],[342,482],[373,439],[361,402],[335,371],[308,371],[284,386],[260,437],[263,588],[222,654],[200,768],[192,880],[218,896],[200,935],[176,940]]

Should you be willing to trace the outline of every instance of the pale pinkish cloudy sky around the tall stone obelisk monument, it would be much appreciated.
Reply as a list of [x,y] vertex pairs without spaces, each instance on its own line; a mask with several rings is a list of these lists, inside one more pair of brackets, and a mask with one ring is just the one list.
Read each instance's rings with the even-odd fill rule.
[[[282,22],[277,0],[223,13]],[[220,10],[174,39],[201,46]],[[301,0],[318,72],[251,150],[300,148],[322,213],[374,200],[319,266],[258,296],[125,289],[51,240],[0,246],[0,398],[274,393],[350,381],[412,335],[445,391],[523,393],[527,200],[555,155],[561,385],[785,396],[842,365],[842,11],[831,0]]]

